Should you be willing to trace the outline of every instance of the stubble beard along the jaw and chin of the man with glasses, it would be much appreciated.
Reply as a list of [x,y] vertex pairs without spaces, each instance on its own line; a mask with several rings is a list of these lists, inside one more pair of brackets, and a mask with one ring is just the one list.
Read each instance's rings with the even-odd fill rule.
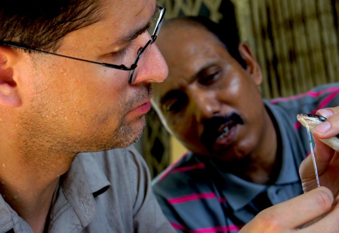
[[[112,129],[112,126],[107,122],[100,129],[95,129],[94,127],[87,130],[87,132],[92,133],[87,133],[85,136],[82,133],[80,137],[75,137],[66,133],[66,126],[62,130],[62,122],[60,121],[49,120],[44,122],[41,119],[36,121],[23,119],[22,122],[26,123],[21,132],[24,133],[18,135],[18,140],[23,140],[22,151],[27,151],[35,156],[38,154],[42,156],[47,156],[48,154],[62,156],[79,152],[109,150],[130,146],[140,139],[145,128],[145,116],[141,116],[138,120],[140,120],[138,126],[131,127],[126,122],[124,115],[120,118],[120,122],[115,129]],[[93,121],[95,121],[95,117],[92,117]]]

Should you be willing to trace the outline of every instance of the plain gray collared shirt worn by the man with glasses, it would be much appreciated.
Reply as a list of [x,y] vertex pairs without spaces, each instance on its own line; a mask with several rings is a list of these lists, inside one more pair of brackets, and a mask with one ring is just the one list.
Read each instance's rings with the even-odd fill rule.
[[[0,196],[0,232],[13,230],[32,233]],[[60,177],[47,230],[174,232],[152,193],[147,167],[133,147],[78,154],[70,170]]]

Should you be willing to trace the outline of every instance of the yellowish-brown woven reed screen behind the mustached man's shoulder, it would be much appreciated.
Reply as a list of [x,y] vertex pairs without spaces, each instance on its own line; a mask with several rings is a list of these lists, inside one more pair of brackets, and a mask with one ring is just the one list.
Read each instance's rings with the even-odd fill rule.
[[232,0],[266,98],[339,81],[338,0]]

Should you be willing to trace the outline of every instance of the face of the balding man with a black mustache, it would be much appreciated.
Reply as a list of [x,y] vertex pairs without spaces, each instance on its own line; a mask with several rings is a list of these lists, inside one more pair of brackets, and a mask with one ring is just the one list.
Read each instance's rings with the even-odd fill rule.
[[249,50],[240,50],[244,69],[211,32],[180,23],[164,27],[156,43],[169,77],[154,85],[152,103],[171,134],[209,157],[231,161],[251,153],[262,137],[265,110],[261,73]]

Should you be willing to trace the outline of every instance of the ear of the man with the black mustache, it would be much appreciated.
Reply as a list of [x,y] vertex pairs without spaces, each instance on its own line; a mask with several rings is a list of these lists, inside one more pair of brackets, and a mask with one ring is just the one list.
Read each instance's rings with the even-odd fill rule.
[[251,75],[254,83],[259,86],[262,82],[262,73],[258,62],[252,54],[252,50],[246,43],[240,42],[239,52],[246,62],[246,71]]

